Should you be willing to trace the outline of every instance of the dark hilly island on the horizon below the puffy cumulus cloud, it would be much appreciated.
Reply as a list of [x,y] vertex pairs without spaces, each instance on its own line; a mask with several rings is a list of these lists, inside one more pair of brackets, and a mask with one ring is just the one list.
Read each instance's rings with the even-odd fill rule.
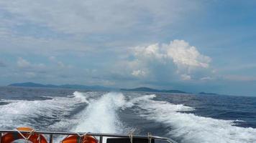
[[138,87],[134,89],[120,89],[122,91],[131,91],[131,92],[166,92],[166,93],[180,93],[186,94],[187,92],[183,92],[180,90],[159,90],[159,89],[151,89],[148,87]]

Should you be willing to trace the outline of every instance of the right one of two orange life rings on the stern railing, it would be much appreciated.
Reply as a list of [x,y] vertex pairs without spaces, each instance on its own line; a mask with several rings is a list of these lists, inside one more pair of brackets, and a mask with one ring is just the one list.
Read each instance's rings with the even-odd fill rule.
[[98,143],[98,140],[89,135],[85,135],[83,137],[79,137],[78,135],[70,135],[63,139],[62,143]]

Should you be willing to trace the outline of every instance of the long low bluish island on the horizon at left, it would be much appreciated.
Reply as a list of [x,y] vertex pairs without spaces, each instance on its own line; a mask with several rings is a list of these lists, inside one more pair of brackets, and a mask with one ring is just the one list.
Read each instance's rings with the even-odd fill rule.
[[34,83],[34,82],[15,83],[15,84],[9,84],[8,86],[12,86],[12,87],[63,88],[63,89],[114,90],[114,88],[102,87],[102,86],[99,86],[99,85],[95,85],[95,86],[85,86],[85,85],[81,85],[81,84],[54,85],[54,84],[37,84],[37,83]]

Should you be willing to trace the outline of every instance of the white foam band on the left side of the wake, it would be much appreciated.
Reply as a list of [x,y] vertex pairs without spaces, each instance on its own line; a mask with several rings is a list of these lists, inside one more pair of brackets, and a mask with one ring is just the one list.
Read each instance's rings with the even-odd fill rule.
[[0,127],[2,129],[24,126],[48,127],[50,123],[40,121],[40,117],[49,119],[49,121],[51,119],[63,120],[74,109],[74,105],[86,102],[86,97],[76,96],[75,93],[75,97],[72,99],[70,97],[51,97],[52,99],[35,101],[6,100],[9,104],[0,106]]

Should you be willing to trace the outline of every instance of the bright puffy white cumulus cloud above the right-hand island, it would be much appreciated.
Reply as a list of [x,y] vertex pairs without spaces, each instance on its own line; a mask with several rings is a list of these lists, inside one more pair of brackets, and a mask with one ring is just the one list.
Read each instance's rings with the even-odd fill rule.
[[147,71],[147,75],[154,77],[161,73],[159,76],[169,74],[169,77],[179,76],[182,80],[206,79],[203,71],[209,69],[211,62],[209,56],[201,54],[195,46],[183,40],[173,40],[170,44],[137,46],[132,50],[132,56],[134,59],[128,61],[127,65],[130,65],[134,77],[145,76]]

